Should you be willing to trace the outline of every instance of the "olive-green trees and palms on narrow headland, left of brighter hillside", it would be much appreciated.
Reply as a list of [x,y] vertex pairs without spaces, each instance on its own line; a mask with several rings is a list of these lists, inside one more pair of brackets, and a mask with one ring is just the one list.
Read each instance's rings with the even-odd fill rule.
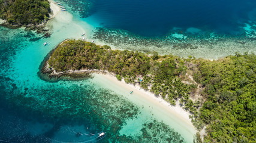
[[112,50],[109,46],[98,46],[91,42],[66,41],[58,46],[49,59],[56,71],[99,69],[115,73],[118,80],[127,83],[140,82],[141,88],[168,99],[175,105],[182,99],[187,109],[195,111],[189,99],[189,85],[181,82],[185,74],[184,61],[173,55],[159,56],[156,52],[149,57],[137,51]]

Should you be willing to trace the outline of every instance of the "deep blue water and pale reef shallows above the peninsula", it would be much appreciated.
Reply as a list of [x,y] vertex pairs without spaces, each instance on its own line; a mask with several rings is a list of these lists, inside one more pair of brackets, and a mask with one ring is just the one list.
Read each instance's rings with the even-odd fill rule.
[[90,41],[115,49],[210,59],[256,51],[253,0],[61,2],[91,26]]

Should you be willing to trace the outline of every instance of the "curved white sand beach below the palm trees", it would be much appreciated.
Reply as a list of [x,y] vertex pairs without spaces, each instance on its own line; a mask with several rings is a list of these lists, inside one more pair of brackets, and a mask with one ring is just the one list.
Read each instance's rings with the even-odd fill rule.
[[[94,73],[93,75],[93,83],[111,89],[117,94],[124,95],[124,97],[139,107],[143,106],[143,111],[152,114],[159,122],[169,125],[180,133],[185,138],[185,141],[192,142],[197,130],[189,119],[189,113],[183,110],[182,107],[179,107],[179,105],[173,107],[162,98],[156,98],[150,92],[140,89],[139,86],[129,85],[124,80],[117,80],[112,74]],[[133,91],[133,94],[130,94],[131,91]]]

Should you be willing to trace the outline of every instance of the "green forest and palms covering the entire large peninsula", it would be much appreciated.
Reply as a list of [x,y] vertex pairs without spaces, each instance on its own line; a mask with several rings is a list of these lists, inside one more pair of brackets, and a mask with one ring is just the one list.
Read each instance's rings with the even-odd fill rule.
[[[256,142],[256,56],[236,54],[219,60],[112,50],[83,41],[66,41],[49,59],[56,71],[100,69],[118,80],[179,102],[206,126],[204,142]],[[188,76],[192,76],[191,80]],[[143,79],[140,82],[140,79]],[[200,98],[195,98],[195,90]]]

